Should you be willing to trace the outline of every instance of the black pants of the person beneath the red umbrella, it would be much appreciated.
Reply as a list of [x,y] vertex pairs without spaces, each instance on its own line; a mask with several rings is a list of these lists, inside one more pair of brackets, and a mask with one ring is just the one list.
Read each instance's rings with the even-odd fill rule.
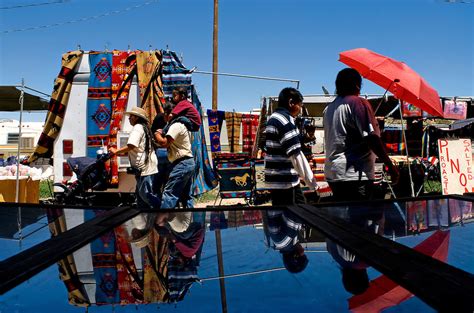
[[374,181],[341,181],[328,182],[331,187],[334,201],[357,201],[374,199]]

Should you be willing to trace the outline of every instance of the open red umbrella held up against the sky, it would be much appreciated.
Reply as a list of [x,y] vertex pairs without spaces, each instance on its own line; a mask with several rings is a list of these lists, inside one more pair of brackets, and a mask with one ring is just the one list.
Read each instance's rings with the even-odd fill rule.
[[357,70],[363,77],[389,90],[400,100],[443,116],[439,95],[418,73],[403,62],[358,48],[339,53],[339,61]]

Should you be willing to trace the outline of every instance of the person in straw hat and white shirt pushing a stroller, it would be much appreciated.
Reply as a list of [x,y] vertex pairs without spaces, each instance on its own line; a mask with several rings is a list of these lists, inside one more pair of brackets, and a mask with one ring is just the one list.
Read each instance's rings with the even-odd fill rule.
[[[148,117],[145,110],[134,107],[128,114],[130,125],[133,126],[128,137],[127,145],[120,149],[110,148],[112,154],[128,154],[130,165],[135,171],[137,185],[135,194],[137,196],[138,208],[159,208],[161,206],[160,197],[153,192],[153,180],[158,173],[158,159],[153,147],[153,136],[148,126]],[[145,229],[144,218],[141,222],[134,220],[138,230]],[[135,231],[137,233],[137,231]],[[140,237],[139,234],[133,234],[134,237]],[[134,238],[137,239],[137,238]]]

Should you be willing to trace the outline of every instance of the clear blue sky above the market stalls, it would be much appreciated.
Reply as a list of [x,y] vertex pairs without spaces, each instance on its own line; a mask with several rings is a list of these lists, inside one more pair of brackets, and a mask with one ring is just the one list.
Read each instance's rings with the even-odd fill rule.
[[[153,0],[148,0],[153,1]],[[0,0],[0,7],[55,0]],[[50,93],[61,54],[75,50],[147,50],[167,46],[184,64],[212,70],[213,0],[68,0],[0,10],[0,84]],[[464,2],[470,2],[465,0]],[[102,15],[99,19],[25,29]],[[341,51],[365,47],[404,61],[442,96],[474,95],[474,3],[441,0],[220,0],[219,71],[300,80],[303,94],[334,90],[345,66]],[[195,74],[204,108],[211,107],[210,75]],[[219,78],[218,106],[249,111],[287,82]],[[363,93],[383,93],[365,81]],[[18,116],[0,113],[1,117]],[[42,121],[42,114],[26,120]]]

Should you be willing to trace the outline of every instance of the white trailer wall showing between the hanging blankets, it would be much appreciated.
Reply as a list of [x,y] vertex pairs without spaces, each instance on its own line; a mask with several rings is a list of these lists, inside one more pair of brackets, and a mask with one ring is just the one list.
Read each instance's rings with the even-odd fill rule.
[[[70,179],[72,176],[66,163],[70,156],[85,156],[86,134],[87,134],[87,92],[89,84],[89,53],[85,52],[78,65],[77,74],[72,83],[72,89],[67,105],[67,113],[64,116],[64,123],[55,144],[54,144],[54,181],[61,182]],[[139,103],[139,92],[136,77],[132,81],[129,91],[127,111]],[[126,144],[131,125],[127,118],[123,119],[122,131],[118,133],[117,144],[120,147]],[[115,192],[133,192],[135,189],[135,178],[127,174],[128,157],[119,157],[119,186],[117,189],[109,189]]]

